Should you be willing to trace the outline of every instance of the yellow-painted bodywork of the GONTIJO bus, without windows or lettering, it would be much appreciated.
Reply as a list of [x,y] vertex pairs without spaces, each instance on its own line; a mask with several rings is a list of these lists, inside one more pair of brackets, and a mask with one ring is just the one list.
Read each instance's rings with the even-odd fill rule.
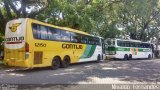
[[[83,35],[89,35],[82,31],[77,31],[74,29],[63,28],[63,27],[57,27],[57,26],[46,24],[46,23],[43,23],[37,20],[27,19],[25,42],[28,43],[29,45],[28,57],[26,58],[25,46],[23,48],[14,49],[14,50],[5,48],[4,49],[5,54],[6,54],[6,56],[4,57],[5,64],[9,66],[18,66],[18,67],[27,67],[27,68],[48,67],[48,66],[51,66],[51,62],[55,56],[59,56],[61,60],[63,60],[63,58],[66,55],[70,57],[71,63],[78,63],[78,60],[84,54],[84,51],[87,47],[86,44],[34,39],[32,27],[31,27],[32,23],[36,23],[36,24],[40,24],[44,26],[55,27],[55,28],[59,28],[59,29],[67,30],[67,31],[77,32]],[[35,43],[43,43],[46,46],[36,47]],[[74,44],[77,46],[81,45],[83,48],[82,49],[63,49],[62,44]],[[41,64],[34,64],[35,52],[42,53],[42,63]]]

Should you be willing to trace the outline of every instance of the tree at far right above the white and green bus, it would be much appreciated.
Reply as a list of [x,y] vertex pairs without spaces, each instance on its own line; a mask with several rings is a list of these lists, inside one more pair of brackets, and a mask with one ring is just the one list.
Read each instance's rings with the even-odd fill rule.
[[154,24],[160,13],[157,2],[158,0],[123,1],[124,7],[121,7],[119,17],[131,39],[148,41],[156,34],[154,27],[157,25]]

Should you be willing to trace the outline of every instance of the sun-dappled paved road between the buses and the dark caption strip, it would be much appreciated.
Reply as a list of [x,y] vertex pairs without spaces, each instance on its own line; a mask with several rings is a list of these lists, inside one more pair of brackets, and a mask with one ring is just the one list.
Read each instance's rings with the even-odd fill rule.
[[102,61],[58,70],[0,69],[0,84],[137,84],[160,83],[160,60]]

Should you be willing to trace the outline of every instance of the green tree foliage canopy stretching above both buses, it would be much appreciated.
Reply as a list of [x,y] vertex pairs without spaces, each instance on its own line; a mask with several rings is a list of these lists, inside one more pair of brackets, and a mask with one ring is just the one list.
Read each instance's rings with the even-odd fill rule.
[[[12,7],[14,0],[6,0],[12,18],[8,16],[9,10],[4,1],[0,0],[4,4],[0,9],[3,16],[0,31],[12,18],[32,17],[104,38],[125,38],[129,35],[131,39],[148,41],[159,36],[159,0],[23,0],[25,3],[21,3],[24,5],[21,11]],[[24,12],[31,7],[34,9],[30,13]]]

